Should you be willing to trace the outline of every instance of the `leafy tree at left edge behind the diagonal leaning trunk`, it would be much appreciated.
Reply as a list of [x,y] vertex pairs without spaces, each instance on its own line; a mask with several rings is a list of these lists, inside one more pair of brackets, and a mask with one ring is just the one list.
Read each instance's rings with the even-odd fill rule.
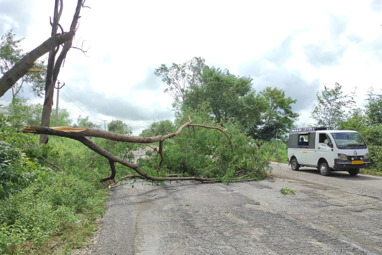
[[[19,44],[23,39],[16,40],[12,30],[1,36],[0,39],[0,72],[3,75],[9,71],[26,53],[19,48]],[[42,97],[44,92],[46,65],[44,61],[34,62],[31,70],[21,77],[19,82],[16,82],[12,87],[12,98],[14,99],[24,84],[29,85],[29,90],[36,97]]]

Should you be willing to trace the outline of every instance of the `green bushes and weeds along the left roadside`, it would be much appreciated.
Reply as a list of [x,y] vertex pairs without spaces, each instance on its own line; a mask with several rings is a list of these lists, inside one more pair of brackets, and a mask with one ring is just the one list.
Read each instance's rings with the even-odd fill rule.
[[[51,137],[49,144],[37,145],[38,136],[17,132],[9,125],[12,119],[0,113],[0,254],[35,254],[45,248],[51,254],[50,239],[65,242],[68,249],[78,246],[104,211],[106,190],[99,179],[108,174],[108,163],[103,159],[84,166],[94,153],[70,139]],[[42,156],[64,172],[43,167],[51,165]]]

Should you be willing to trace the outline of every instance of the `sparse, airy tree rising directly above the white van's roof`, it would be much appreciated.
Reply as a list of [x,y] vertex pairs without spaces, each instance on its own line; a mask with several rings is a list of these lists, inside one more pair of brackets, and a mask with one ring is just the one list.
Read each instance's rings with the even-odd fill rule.
[[346,120],[346,109],[351,109],[354,104],[354,93],[343,95],[342,86],[335,83],[333,89],[324,86],[321,93],[316,94],[317,103],[311,112],[311,117],[316,120],[316,125],[335,129]]

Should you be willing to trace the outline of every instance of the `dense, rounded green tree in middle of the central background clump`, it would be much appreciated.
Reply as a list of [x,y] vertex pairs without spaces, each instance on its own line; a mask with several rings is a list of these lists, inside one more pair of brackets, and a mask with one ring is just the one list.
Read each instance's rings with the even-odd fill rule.
[[185,105],[209,111],[217,123],[228,120],[243,124],[258,120],[264,110],[252,90],[252,79],[231,74],[228,70],[204,67],[202,84],[186,94]]

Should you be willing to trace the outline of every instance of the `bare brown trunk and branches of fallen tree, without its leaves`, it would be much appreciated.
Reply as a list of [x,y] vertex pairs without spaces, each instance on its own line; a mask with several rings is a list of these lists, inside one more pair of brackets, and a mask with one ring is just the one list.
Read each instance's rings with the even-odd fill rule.
[[[24,128],[21,129],[21,131],[35,133],[35,134],[47,134],[47,135],[56,135],[56,136],[61,136],[61,137],[68,137],[68,138],[80,141],[85,146],[92,149],[93,151],[95,151],[96,153],[105,157],[108,160],[109,165],[110,165],[111,174],[110,174],[110,176],[104,177],[101,181],[113,180],[115,183],[114,178],[115,178],[115,174],[116,174],[116,168],[115,168],[116,162],[133,169],[142,178],[148,179],[148,180],[153,180],[153,181],[196,180],[196,181],[200,181],[203,183],[222,181],[225,176],[220,176],[219,178],[204,178],[204,174],[202,175],[202,177],[199,177],[199,176],[182,176],[182,175],[153,176],[153,175],[150,175],[149,173],[143,171],[138,165],[136,165],[132,162],[128,162],[125,159],[122,159],[122,158],[119,158],[119,157],[113,155],[112,153],[105,150],[104,148],[102,148],[101,146],[96,144],[95,142],[93,142],[90,139],[85,137],[85,136],[100,137],[100,138],[105,138],[105,139],[113,140],[113,141],[139,143],[139,144],[159,142],[159,147],[156,148],[155,151],[160,155],[160,161],[159,161],[158,166],[157,166],[157,169],[160,169],[161,165],[163,163],[163,160],[164,160],[164,156],[163,156],[164,141],[180,135],[185,128],[189,128],[188,130],[189,130],[189,137],[190,137],[190,127],[218,130],[221,133],[222,137],[224,137],[224,140],[228,141],[227,150],[231,150],[231,151],[234,150],[234,148],[232,146],[232,141],[231,141],[232,134],[228,134],[226,132],[226,128],[193,124],[190,117],[189,117],[189,122],[182,125],[176,132],[168,133],[166,135],[152,136],[152,137],[142,137],[142,136],[119,134],[119,133],[104,131],[104,130],[95,129],[95,128],[76,128],[76,127],[47,128],[47,127],[41,127],[41,126],[25,126]],[[250,145],[245,144],[245,146],[250,146]],[[275,149],[275,151],[276,151],[276,149]],[[186,158],[187,158],[187,153],[188,153],[188,147],[187,147],[187,151],[186,151]],[[249,181],[249,180],[255,179],[255,178],[251,178],[251,177],[253,177],[253,174],[256,173],[257,170],[259,170],[259,168],[264,167],[264,164],[269,160],[269,158],[271,156],[272,156],[272,154],[268,158],[266,158],[265,160],[260,162],[260,164],[257,166],[257,168],[247,169],[246,171],[243,171],[243,170],[237,171],[238,173],[240,172],[241,175],[236,176],[234,178],[230,178],[229,181]],[[125,177],[123,177],[123,178],[125,178]]]

